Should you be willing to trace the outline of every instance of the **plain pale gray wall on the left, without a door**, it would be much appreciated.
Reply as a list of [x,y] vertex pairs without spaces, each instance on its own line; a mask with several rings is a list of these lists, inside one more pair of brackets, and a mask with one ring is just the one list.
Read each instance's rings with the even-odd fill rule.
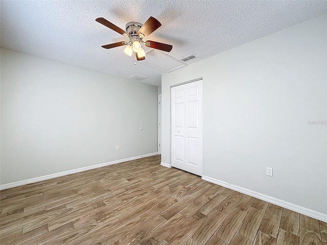
[[157,152],[157,93],[2,48],[0,183]]

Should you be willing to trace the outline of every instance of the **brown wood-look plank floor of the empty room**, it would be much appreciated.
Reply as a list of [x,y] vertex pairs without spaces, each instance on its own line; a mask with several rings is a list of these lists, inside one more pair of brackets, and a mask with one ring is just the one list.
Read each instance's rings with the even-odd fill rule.
[[326,223],[160,166],[160,156],[0,193],[3,245],[327,245]]

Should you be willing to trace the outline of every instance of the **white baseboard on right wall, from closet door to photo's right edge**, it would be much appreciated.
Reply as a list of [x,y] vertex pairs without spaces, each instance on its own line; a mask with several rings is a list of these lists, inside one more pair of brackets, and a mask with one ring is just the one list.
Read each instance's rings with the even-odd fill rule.
[[[162,162],[161,162],[161,165],[162,165]],[[266,201],[266,202],[281,206],[283,208],[287,208],[289,210],[292,210],[294,212],[298,212],[298,213],[307,215],[307,216],[312,217],[312,218],[316,218],[316,219],[321,220],[323,222],[327,222],[327,214],[320,213],[320,212],[311,210],[309,208],[301,207],[301,206],[298,206],[298,205],[295,205],[293,203],[289,203],[289,202],[286,202],[286,201],[283,201],[283,200],[280,200],[280,199],[277,199],[277,198],[273,198],[273,197],[270,197],[269,195],[265,195],[265,194],[262,194],[262,193],[259,193],[259,192],[253,191],[253,190],[249,190],[249,189],[237,186],[237,185],[229,184],[229,183],[226,183],[224,181],[216,180],[216,179],[211,178],[211,177],[202,176],[202,180],[205,180],[205,181],[217,184],[217,185],[221,185],[221,186],[226,187],[228,189],[239,191],[241,193],[250,195],[251,197],[258,198],[260,200],[263,200],[263,201]]]

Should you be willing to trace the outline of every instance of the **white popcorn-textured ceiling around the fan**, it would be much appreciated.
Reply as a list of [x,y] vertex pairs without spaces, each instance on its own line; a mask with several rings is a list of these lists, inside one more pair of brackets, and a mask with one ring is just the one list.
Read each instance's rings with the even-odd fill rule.
[[[315,0],[1,0],[0,7],[1,47],[123,78],[141,75],[147,77],[142,82],[156,86],[174,59],[154,50],[155,66],[134,65],[124,46],[102,48],[127,38],[96,22],[97,17],[124,30],[129,21],[155,17],[162,26],[148,39],[172,44],[168,54],[177,60],[197,55],[185,62],[190,64],[327,12],[327,2]],[[154,68],[160,62],[163,70]]]

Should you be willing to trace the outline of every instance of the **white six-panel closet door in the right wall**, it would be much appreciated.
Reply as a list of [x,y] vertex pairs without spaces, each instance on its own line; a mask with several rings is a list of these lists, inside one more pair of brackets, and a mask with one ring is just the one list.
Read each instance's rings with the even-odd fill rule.
[[171,88],[172,166],[202,176],[202,80]]

